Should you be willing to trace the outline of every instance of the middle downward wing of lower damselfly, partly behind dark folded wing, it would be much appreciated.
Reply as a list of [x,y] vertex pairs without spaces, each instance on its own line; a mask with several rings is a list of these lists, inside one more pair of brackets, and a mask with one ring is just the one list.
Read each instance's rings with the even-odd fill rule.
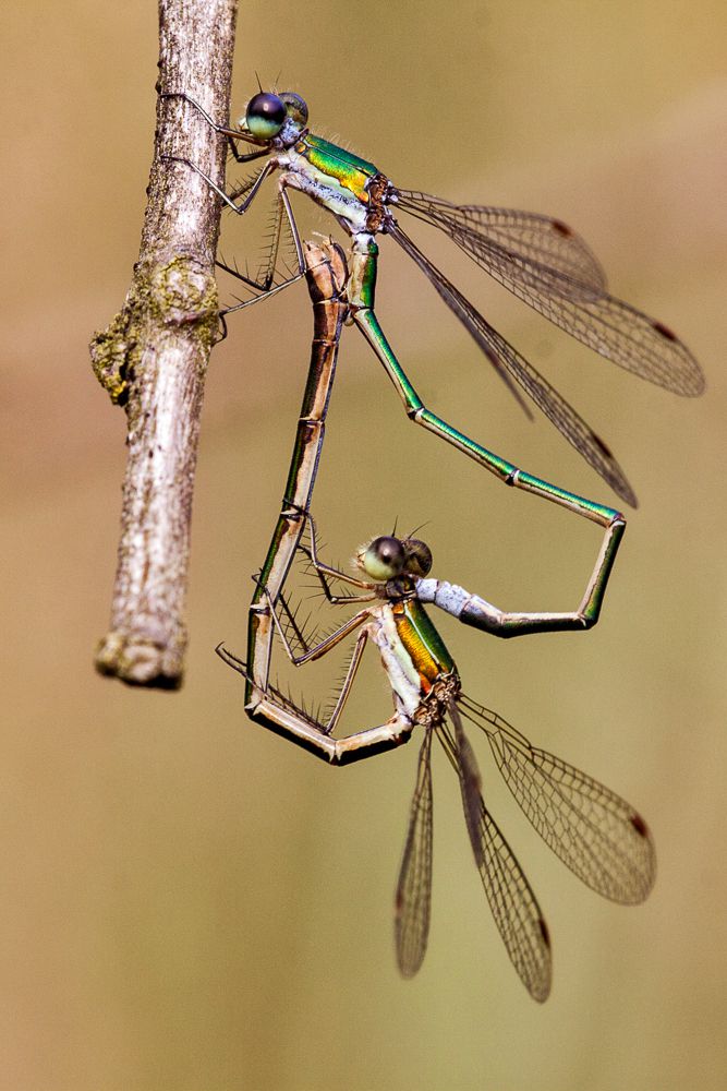
[[[445,723],[435,730],[461,780],[455,736]],[[533,999],[542,1003],[547,999],[552,980],[547,926],[537,899],[482,795],[478,804],[475,859],[482,885],[510,961]]]

